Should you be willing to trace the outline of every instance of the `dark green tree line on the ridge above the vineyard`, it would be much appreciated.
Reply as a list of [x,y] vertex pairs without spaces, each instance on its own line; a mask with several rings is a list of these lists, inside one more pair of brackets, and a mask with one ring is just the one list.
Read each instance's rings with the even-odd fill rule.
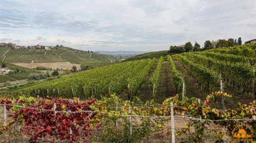
[[229,47],[229,46],[236,46],[236,45],[242,45],[242,39],[239,37],[238,39],[230,38],[228,40],[226,39],[218,39],[216,41],[212,40],[206,40],[204,42],[203,47],[201,48],[199,43],[195,43],[194,46],[191,42],[187,42],[184,46],[170,46],[169,53],[184,53],[184,52],[196,52],[196,51],[203,51],[203,50],[210,50],[215,49],[219,47]]

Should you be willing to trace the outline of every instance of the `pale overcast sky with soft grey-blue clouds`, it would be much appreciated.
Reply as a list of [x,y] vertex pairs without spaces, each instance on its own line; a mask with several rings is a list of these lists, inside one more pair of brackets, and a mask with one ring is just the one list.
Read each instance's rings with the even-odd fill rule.
[[0,42],[167,50],[256,39],[256,0],[0,0]]

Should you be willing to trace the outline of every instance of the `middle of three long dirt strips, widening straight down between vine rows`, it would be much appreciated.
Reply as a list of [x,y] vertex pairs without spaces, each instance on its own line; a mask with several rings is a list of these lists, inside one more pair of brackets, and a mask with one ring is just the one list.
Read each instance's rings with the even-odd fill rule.
[[171,69],[169,61],[164,61],[162,63],[162,70],[160,72],[160,83],[155,97],[155,101],[159,104],[169,97],[176,95],[175,85],[173,83],[173,78],[171,75]]

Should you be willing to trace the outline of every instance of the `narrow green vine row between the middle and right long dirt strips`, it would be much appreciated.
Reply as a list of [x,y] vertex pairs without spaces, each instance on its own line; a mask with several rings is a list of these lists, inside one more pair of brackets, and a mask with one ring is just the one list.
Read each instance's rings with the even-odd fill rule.
[[[181,73],[181,71],[178,71],[176,69],[176,66],[173,62],[173,58],[171,56],[167,56],[167,59],[170,63],[171,67],[171,74],[173,77],[173,82],[175,84],[176,92],[181,95],[182,94],[182,88],[183,88],[183,82],[184,82],[184,77]],[[186,95],[186,88],[184,87],[184,96]]]

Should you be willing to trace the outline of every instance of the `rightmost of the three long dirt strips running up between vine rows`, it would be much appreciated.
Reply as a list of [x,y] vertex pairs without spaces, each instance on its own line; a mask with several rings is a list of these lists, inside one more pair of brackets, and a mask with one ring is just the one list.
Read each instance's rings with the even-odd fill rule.
[[200,87],[197,85],[197,83],[192,79],[186,69],[183,67],[183,65],[179,61],[174,61],[174,64],[176,65],[176,68],[178,71],[181,71],[184,75],[185,80],[185,86],[186,86],[186,96],[191,97],[197,97],[201,100],[205,99],[206,93],[203,93],[203,91],[200,89]]

